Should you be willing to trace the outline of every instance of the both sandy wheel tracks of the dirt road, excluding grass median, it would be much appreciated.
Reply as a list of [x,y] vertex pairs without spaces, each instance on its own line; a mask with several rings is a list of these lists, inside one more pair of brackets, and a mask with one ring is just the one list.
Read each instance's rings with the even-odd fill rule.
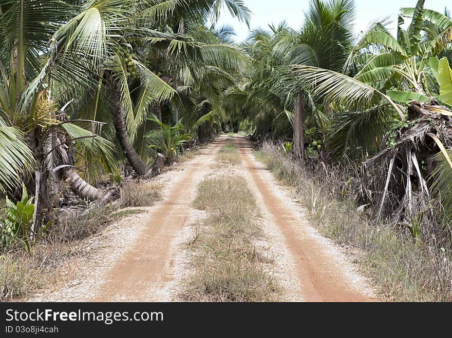
[[[179,284],[189,273],[186,241],[193,236],[193,209],[198,183],[215,173],[215,156],[228,138],[241,156],[234,169],[255,193],[266,230],[266,247],[275,259],[274,272],[285,286],[285,301],[362,302],[372,289],[345,255],[306,221],[304,209],[287,189],[257,162],[244,137],[221,135],[193,160],[156,178],[164,186],[163,201],[146,213],[124,218],[89,243],[96,250],[74,268],[72,280],[44,290],[31,301],[177,301]],[[90,244],[91,245],[91,244]]]

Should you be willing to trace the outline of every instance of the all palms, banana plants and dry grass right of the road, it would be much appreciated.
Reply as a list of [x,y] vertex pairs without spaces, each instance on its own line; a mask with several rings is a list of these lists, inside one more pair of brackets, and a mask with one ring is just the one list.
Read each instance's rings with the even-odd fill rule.
[[252,122],[262,161],[312,223],[363,249],[382,294],[450,301],[450,12],[413,0],[397,27],[358,35],[355,20],[353,1],[311,1],[299,29],[254,30],[233,116]]

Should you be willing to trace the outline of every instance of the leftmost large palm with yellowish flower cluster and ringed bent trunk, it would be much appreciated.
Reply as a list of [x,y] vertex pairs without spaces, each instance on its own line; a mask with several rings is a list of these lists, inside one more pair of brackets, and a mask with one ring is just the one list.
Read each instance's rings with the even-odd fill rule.
[[[115,5],[113,3],[108,5]],[[107,170],[115,171],[111,155],[113,145],[97,133],[101,125],[71,119],[64,111],[73,101],[68,97],[77,97],[89,87],[91,72],[96,70],[105,53],[105,30],[91,25],[97,22],[93,16],[96,6],[107,10],[105,5],[100,2],[0,2],[0,45],[4,46],[0,51],[0,113],[9,126],[10,139],[16,135],[21,142],[16,145],[17,158],[12,162],[16,165],[15,173],[32,166],[33,174],[28,175],[24,170],[15,180],[22,177],[28,190],[35,191],[38,220],[48,209],[49,175],[55,184],[65,179],[83,197],[102,195],[73,171],[70,158],[74,152],[71,151],[77,156],[99,158]],[[118,8],[108,10],[122,14]],[[85,129],[87,125],[91,130]],[[21,134],[14,132],[15,129]],[[33,161],[24,153],[25,147],[30,149]]]

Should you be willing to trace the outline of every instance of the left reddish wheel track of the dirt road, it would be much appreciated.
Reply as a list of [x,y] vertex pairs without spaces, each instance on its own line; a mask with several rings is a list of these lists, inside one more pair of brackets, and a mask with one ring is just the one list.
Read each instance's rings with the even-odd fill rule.
[[[218,148],[225,143],[219,137],[206,152],[187,163],[183,173],[173,183],[168,197],[153,212],[146,230],[137,243],[111,269],[94,301],[143,301],[143,293],[160,289],[171,279],[165,271],[172,264],[171,243],[184,226],[192,204],[191,192],[196,190],[202,171],[215,158]],[[147,291],[144,291],[147,290]]]

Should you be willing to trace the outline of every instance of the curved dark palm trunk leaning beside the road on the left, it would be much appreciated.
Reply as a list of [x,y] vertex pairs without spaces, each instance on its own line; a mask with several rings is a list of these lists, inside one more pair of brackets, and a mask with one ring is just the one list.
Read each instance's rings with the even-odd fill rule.
[[113,109],[116,115],[116,135],[118,137],[122,151],[124,152],[125,157],[127,158],[132,168],[134,168],[135,172],[138,175],[144,175],[150,169],[150,167],[148,167],[143,162],[143,160],[141,160],[141,157],[138,155],[137,151],[129,140],[127,129],[124,123],[124,117],[122,116],[121,100],[120,94],[118,92],[118,86],[113,79],[111,81],[111,101],[113,103]]

